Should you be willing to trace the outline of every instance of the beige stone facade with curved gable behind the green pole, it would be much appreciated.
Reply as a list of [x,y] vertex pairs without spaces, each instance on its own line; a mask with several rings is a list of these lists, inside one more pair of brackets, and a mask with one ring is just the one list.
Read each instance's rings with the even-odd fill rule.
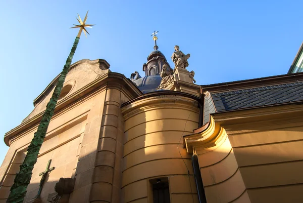
[[[60,178],[76,179],[69,202],[120,201],[124,136],[120,106],[141,92],[124,75],[112,73],[105,60],[81,60],[72,66],[65,87],[73,87],[56,106],[25,202],[37,194],[39,173],[45,170],[49,159],[55,170],[46,176],[43,203],[48,193],[55,192]],[[10,148],[0,167],[1,203],[6,202],[55,84],[56,78],[34,101],[32,113],[5,135]]]

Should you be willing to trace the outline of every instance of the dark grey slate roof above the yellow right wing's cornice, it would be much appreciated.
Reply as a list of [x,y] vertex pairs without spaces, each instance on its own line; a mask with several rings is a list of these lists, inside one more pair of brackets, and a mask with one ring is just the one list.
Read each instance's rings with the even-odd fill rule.
[[303,82],[212,93],[211,96],[216,112],[303,101]]

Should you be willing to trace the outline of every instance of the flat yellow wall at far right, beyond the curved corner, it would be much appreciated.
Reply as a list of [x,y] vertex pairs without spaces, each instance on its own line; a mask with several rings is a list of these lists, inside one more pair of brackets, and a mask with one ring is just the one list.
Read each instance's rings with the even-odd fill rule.
[[302,123],[284,123],[268,131],[229,135],[251,202],[303,201],[302,132]]

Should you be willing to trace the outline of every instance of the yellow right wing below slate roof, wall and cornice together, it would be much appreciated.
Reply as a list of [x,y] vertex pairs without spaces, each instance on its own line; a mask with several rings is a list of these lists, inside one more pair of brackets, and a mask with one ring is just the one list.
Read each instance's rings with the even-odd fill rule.
[[207,202],[303,202],[303,107],[214,114],[185,137],[196,153]]

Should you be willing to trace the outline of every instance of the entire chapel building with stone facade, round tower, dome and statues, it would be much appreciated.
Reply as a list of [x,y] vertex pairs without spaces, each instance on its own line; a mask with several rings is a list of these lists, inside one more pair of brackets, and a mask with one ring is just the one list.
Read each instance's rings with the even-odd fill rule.
[[[24,202],[303,202],[303,73],[196,85],[175,51],[172,68],[156,45],[143,77],[72,64]],[[0,203],[58,78],[5,134]]]

